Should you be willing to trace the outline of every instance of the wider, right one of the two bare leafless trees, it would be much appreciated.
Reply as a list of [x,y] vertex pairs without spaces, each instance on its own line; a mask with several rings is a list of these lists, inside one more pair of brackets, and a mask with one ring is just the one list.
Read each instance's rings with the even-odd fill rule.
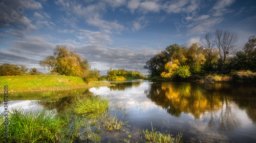
[[219,49],[221,61],[224,63],[229,52],[236,46],[238,35],[229,31],[216,30],[214,41]]

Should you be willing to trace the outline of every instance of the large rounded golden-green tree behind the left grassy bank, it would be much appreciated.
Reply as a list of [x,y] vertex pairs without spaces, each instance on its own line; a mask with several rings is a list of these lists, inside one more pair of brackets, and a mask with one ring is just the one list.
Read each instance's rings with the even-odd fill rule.
[[86,77],[90,69],[87,60],[82,60],[75,51],[66,47],[56,46],[54,55],[47,56],[39,64],[60,75]]

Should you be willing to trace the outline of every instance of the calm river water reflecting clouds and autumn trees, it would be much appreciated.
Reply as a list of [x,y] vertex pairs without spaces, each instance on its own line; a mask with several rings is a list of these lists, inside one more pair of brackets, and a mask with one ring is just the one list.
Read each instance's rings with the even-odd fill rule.
[[[171,83],[148,81],[113,82],[114,87],[92,88],[113,106],[126,108],[125,131],[101,134],[102,142],[128,138],[143,142],[140,132],[155,128],[186,142],[256,142],[256,88],[251,83]],[[9,106],[46,107],[59,111],[74,96],[39,101],[9,101]],[[54,104],[52,104],[54,103]],[[30,105],[30,106],[29,106]],[[0,105],[2,109],[2,104]],[[129,133],[127,133],[127,131]],[[121,142],[121,141],[120,141]]]

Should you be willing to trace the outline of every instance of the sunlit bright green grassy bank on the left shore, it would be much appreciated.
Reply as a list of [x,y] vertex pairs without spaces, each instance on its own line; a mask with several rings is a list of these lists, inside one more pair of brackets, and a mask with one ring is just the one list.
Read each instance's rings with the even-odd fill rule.
[[92,81],[87,84],[83,78],[63,75],[0,76],[0,84],[8,85],[9,92],[45,92],[86,89],[110,85],[108,82]]

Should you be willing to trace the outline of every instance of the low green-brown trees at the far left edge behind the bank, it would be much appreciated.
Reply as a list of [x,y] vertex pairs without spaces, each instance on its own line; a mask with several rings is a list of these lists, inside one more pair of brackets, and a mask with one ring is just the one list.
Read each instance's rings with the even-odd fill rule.
[[19,75],[20,73],[18,65],[5,63],[0,66],[0,76]]

